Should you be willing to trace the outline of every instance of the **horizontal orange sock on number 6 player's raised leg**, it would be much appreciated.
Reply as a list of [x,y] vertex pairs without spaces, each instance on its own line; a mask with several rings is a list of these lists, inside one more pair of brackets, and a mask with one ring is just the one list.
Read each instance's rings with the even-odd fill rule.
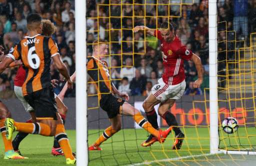
[[14,125],[17,131],[32,133],[32,134],[40,134],[44,136],[50,135],[50,127],[44,123],[21,123],[15,122]]

